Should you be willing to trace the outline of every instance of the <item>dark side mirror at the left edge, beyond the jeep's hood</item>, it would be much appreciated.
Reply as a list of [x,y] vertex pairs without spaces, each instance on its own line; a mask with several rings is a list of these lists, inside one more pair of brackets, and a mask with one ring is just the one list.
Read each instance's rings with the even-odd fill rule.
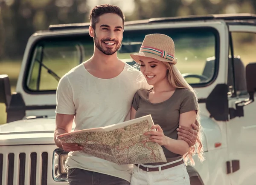
[[11,101],[11,85],[7,74],[0,75],[0,103],[6,104],[9,107]]

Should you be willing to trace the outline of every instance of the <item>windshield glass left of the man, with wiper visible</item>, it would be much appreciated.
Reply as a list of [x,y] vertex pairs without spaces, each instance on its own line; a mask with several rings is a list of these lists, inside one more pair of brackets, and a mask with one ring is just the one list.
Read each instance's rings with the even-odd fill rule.
[[68,69],[82,61],[81,47],[77,41],[40,42],[34,50],[27,87],[33,91],[56,90]]

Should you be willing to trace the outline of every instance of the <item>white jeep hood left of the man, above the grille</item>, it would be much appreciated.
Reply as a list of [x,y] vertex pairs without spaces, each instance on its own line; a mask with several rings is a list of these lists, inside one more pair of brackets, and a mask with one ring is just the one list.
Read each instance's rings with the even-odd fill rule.
[[18,120],[6,123],[0,125],[0,145],[55,144],[54,130],[55,118]]

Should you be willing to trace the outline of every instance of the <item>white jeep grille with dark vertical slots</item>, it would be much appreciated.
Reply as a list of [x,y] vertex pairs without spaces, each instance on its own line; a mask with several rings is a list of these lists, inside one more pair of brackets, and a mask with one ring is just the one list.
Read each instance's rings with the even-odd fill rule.
[[51,184],[55,148],[55,145],[0,146],[0,185],[47,185],[47,180]]

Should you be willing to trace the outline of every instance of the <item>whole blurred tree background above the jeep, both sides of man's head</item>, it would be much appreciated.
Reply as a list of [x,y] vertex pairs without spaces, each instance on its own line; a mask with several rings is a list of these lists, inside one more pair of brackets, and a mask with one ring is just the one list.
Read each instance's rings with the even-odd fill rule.
[[[121,0],[98,3],[130,6]],[[87,0],[0,0],[0,60],[20,59],[31,34],[50,24],[88,22],[91,8]],[[255,11],[256,0],[134,0],[126,20]]]

